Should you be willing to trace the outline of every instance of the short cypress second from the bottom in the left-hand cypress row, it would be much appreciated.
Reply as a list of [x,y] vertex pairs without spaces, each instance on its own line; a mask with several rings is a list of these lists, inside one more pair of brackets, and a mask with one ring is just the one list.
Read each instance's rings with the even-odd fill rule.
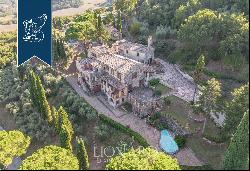
[[72,136],[66,125],[61,126],[59,135],[60,135],[61,147],[72,151],[72,145],[71,145]]

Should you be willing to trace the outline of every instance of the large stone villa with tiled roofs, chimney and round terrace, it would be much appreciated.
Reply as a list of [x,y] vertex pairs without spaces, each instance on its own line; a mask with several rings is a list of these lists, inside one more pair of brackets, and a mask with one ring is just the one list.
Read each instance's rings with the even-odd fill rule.
[[88,58],[76,61],[78,83],[93,94],[101,92],[114,108],[129,102],[133,113],[139,117],[154,113],[160,103],[147,87],[153,72],[151,41],[149,38],[148,46],[121,40],[111,48],[92,47]]

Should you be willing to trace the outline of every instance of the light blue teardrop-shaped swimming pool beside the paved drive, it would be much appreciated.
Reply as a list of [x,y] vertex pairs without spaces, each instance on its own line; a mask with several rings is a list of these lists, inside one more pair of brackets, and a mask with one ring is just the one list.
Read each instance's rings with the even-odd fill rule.
[[174,154],[179,150],[178,145],[167,130],[161,131],[160,147],[168,154]]

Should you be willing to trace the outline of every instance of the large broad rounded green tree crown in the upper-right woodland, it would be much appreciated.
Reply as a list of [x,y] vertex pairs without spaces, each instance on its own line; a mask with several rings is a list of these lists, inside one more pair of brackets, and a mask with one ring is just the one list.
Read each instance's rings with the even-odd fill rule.
[[199,51],[217,50],[219,56],[246,56],[249,23],[243,14],[199,10],[185,19],[178,31],[179,40]]

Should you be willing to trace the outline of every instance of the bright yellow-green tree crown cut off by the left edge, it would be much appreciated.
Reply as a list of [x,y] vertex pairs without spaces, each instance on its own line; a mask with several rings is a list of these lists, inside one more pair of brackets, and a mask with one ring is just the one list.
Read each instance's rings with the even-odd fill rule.
[[26,153],[30,137],[20,131],[0,131],[0,163],[8,166],[12,159]]

